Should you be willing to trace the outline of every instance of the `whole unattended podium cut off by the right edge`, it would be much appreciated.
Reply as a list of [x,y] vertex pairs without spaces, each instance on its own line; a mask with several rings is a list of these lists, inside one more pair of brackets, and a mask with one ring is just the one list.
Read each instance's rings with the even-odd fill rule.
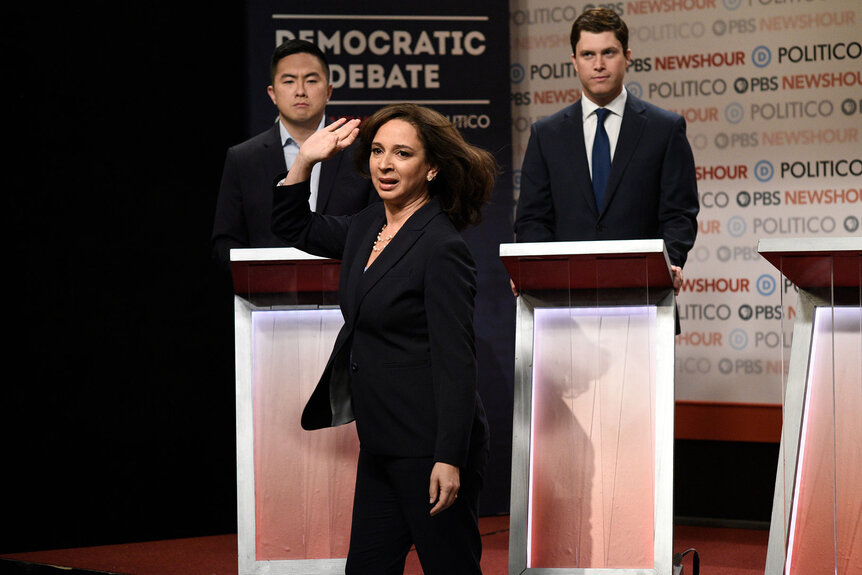
[[862,238],[757,249],[799,292],[766,573],[862,573]]

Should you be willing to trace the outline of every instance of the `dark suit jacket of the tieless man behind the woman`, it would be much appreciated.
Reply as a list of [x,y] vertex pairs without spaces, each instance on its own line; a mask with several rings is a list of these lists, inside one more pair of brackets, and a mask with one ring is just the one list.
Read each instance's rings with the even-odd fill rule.
[[[228,149],[212,234],[213,255],[224,267],[230,265],[231,248],[285,245],[272,233],[271,223],[272,185],[286,171],[277,123]],[[353,214],[378,200],[371,182],[353,167],[353,148],[321,165],[321,213]]]

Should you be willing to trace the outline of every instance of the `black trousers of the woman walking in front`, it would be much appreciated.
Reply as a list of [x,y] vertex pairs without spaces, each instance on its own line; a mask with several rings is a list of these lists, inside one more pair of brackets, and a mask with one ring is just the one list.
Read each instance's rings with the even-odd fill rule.
[[461,470],[458,499],[429,515],[431,458],[393,458],[360,449],[346,575],[401,575],[412,545],[425,575],[481,574],[479,488]]

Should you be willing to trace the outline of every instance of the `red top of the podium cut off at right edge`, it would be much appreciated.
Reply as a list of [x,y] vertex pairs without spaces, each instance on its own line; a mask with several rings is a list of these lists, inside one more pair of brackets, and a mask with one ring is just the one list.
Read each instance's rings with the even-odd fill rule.
[[801,288],[859,287],[862,238],[782,238],[757,242],[757,251]]

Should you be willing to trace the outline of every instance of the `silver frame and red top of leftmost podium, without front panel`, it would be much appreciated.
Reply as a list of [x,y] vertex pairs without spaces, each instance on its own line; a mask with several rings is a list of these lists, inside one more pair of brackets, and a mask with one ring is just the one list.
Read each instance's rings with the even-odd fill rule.
[[[253,312],[338,309],[335,302],[340,264],[293,248],[253,248],[231,250],[231,265],[235,292],[239,575],[341,575],[346,558],[257,559],[252,357]],[[304,267],[284,273],[289,266]],[[249,273],[250,269],[253,273]]]

